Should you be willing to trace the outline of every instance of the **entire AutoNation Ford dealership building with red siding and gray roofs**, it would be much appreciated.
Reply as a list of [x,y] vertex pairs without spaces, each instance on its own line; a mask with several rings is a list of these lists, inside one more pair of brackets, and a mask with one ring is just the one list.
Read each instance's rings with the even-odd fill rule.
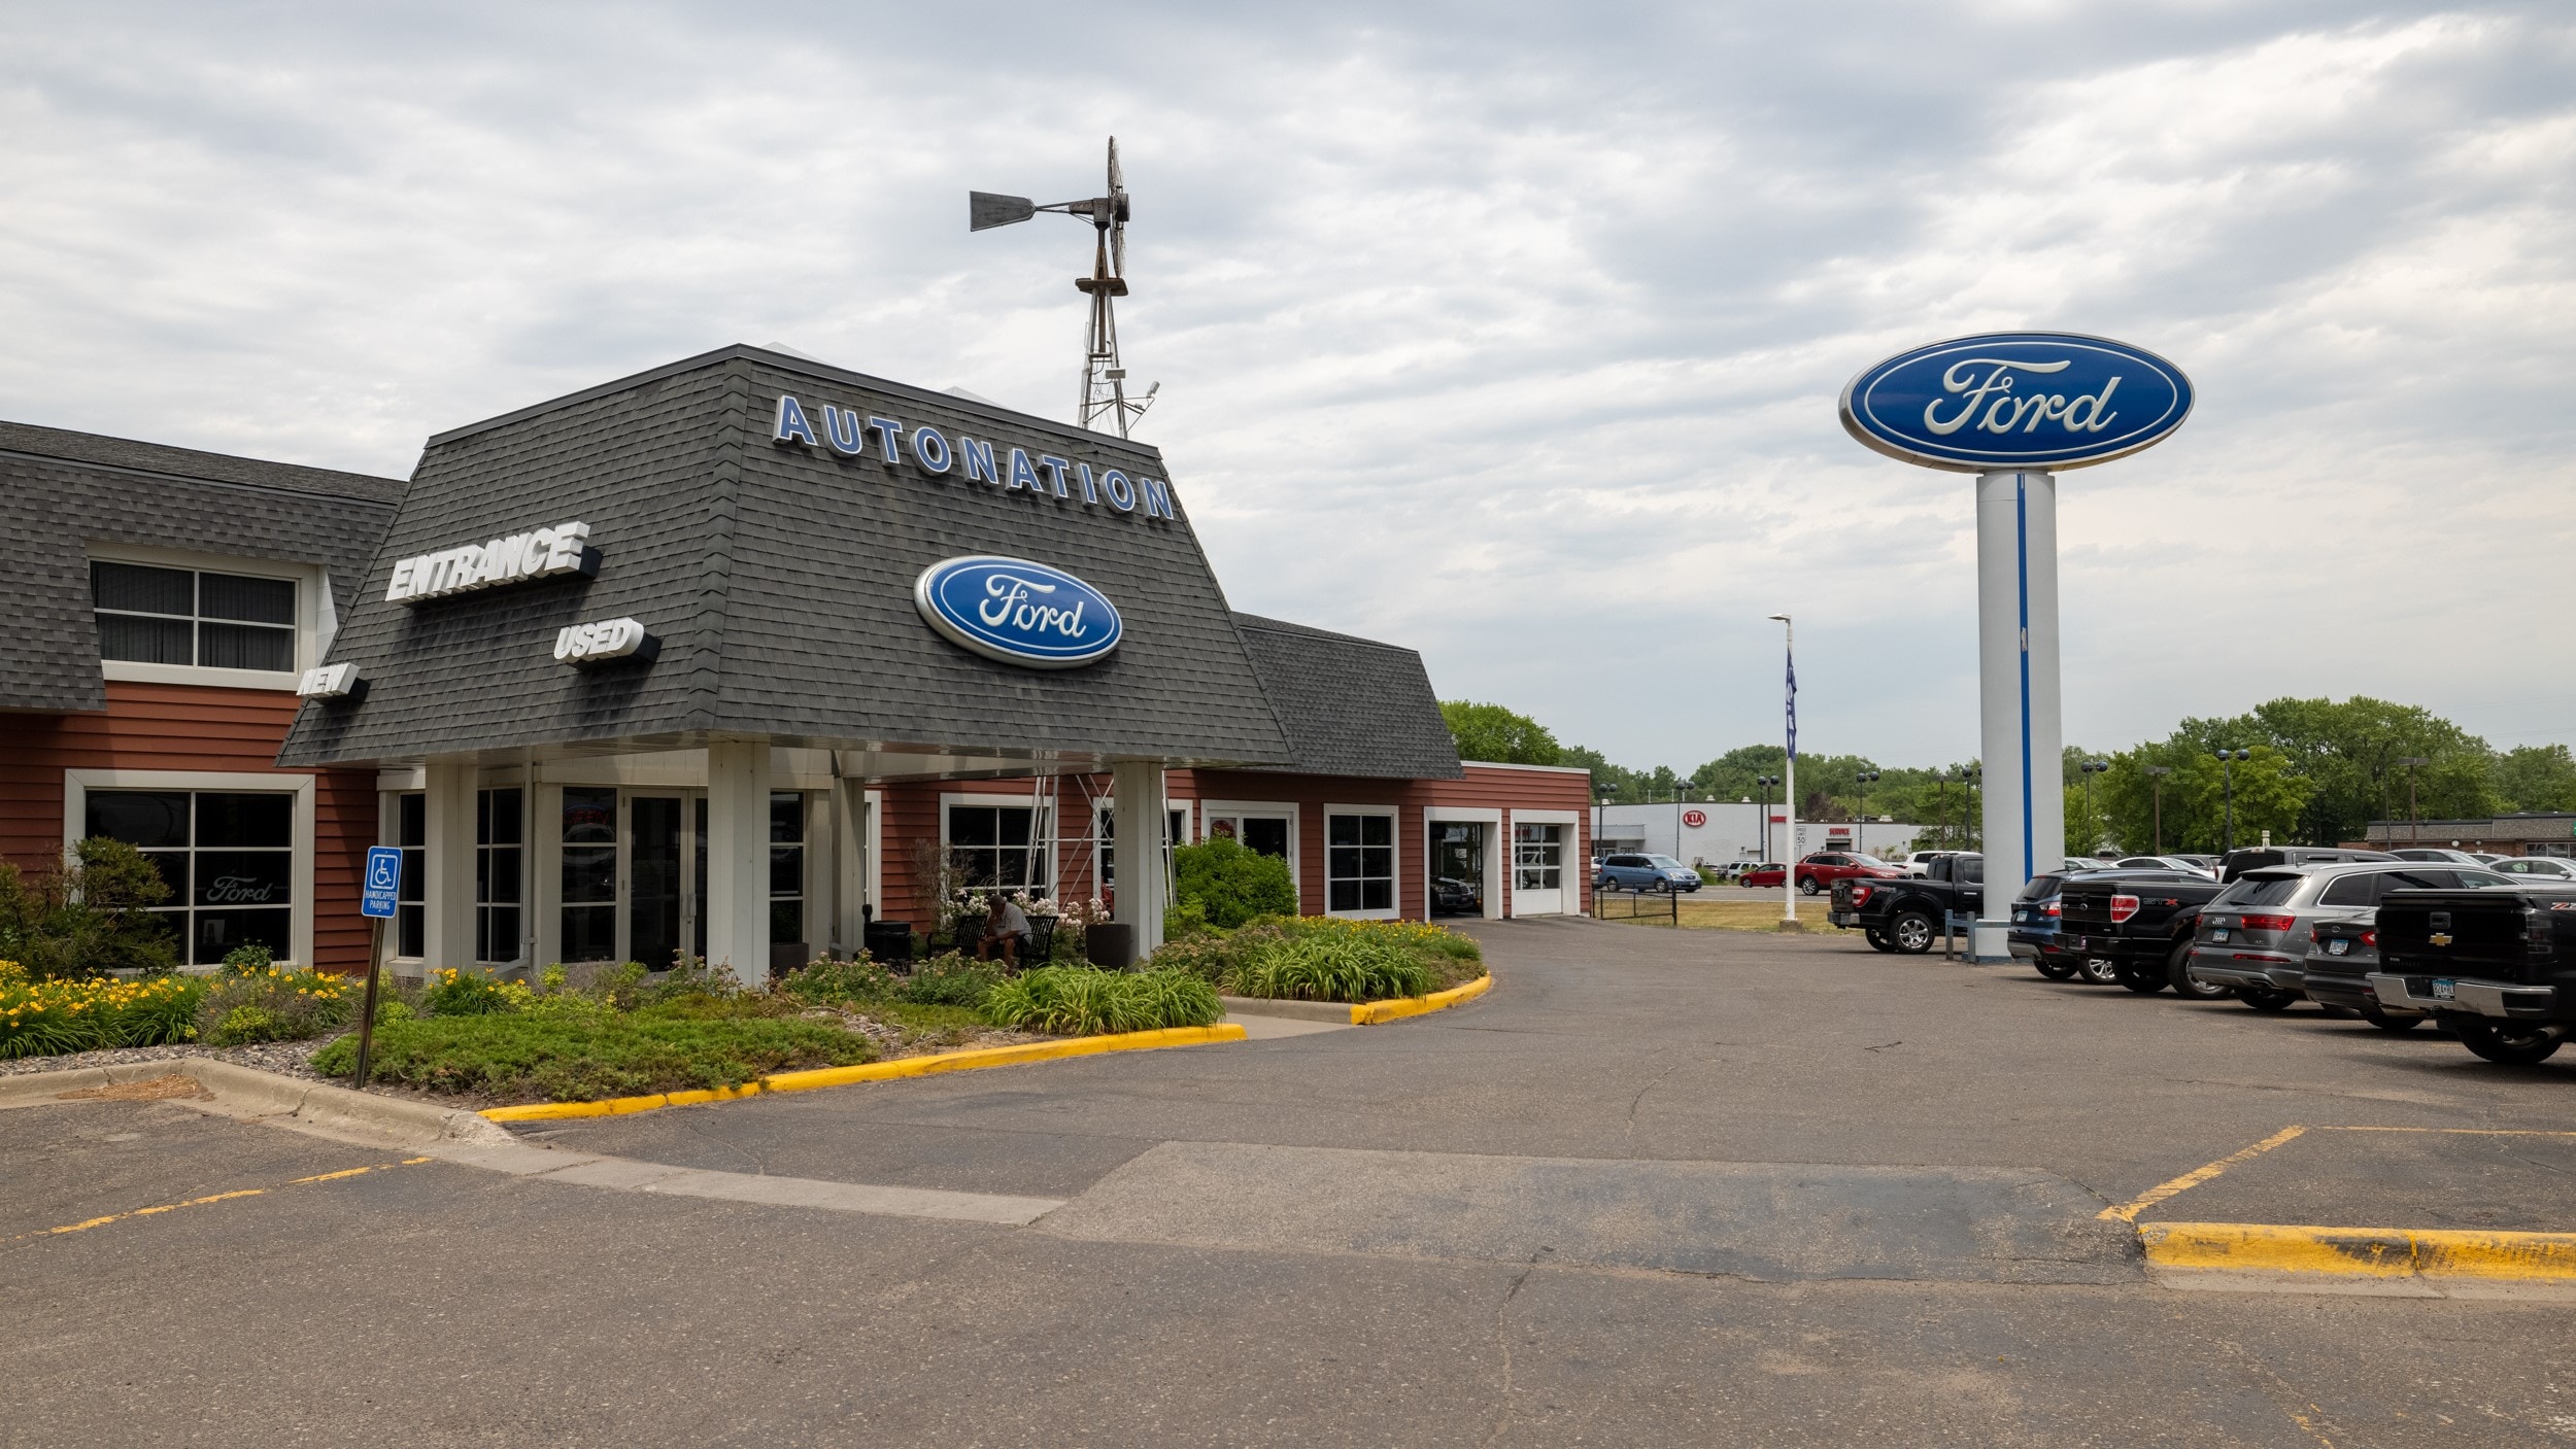
[[[90,834],[183,960],[703,955],[1113,896],[1170,844],[1360,919],[1584,911],[1589,777],[1458,762],[1414,651],[1226,605],[1157,450],[721,347],[430,438],[410,481],[0,425],[0,852]],[[1121,844],[1159,867],[1121,875]]]

